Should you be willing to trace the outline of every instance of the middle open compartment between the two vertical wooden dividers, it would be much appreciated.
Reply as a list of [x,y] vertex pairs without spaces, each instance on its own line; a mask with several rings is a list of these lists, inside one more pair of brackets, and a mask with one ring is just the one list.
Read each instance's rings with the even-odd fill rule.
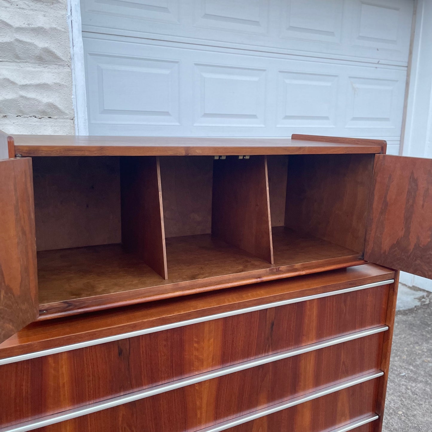
[[264,156],[160,158],[170,280],[269,267],[265,162]]

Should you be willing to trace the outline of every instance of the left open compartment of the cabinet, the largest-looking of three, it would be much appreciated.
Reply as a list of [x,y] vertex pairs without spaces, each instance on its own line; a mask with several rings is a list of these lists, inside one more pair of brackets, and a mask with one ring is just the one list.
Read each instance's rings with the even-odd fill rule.
[[[39,301],[163,282],[156,157],[35,157]],[[162,263],[162,264],[161,264]]]

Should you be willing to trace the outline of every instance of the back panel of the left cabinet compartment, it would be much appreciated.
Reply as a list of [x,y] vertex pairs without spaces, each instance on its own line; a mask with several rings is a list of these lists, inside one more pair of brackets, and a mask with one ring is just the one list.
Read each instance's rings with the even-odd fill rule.
[[118,157],[34,157],[38,251],[121,242]]

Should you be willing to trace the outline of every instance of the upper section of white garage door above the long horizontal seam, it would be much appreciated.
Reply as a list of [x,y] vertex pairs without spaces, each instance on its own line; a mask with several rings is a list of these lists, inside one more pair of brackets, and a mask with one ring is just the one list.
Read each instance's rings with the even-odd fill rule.
[[81,3],[88,32],[405,66],[414,5],[413,0]]

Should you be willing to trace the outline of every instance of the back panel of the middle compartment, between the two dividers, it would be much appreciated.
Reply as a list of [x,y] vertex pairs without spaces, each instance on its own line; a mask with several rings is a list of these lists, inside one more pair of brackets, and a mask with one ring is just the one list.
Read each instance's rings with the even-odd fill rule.
[[161,156],[165,237],[210,234],[213,158]]

